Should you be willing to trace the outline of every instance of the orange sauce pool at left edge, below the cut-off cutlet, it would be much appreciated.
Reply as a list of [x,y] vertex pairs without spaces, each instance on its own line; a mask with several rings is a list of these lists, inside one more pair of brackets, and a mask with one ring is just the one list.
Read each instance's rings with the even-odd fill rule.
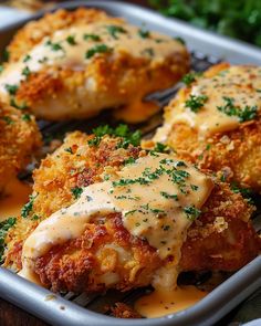
[[18,217],[21,208],[28,202],[29,194],[32,192],[28,183],[18,179],[11,180],[4,188],[4,194],[0,199],[0,221],[9,217]]

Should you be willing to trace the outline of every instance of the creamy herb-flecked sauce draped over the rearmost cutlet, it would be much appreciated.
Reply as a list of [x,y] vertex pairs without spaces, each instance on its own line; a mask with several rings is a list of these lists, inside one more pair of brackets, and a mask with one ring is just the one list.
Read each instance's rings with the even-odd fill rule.
[[[94,57],[97,55],[129,54],[137,59],[148,59],[152,66],[163,63],[167,57],[171,57],[177,52],[184,51],[184,45],[158,33],[152,33],[148,38],[142,38],[136,27],[123,22],[96,22],[86,25],[73,27],[66,30],[59,30],[51,38],[44,38],[24,57],[17,63],[12,63],[4,69],[0,76],[0,93],[8,97],[6,85],[19,85],[27,78],[24,69],[35,73],[48,70],[50,66],[69,69],[72,71],[85,71]],[[122,29],[111,32],[109,28]],[[86,39],[86,35],[91,35]],[[93,38],[100,38],[98,41]],[[71,41],[70,41],[71,40]],[[86,57],[88,51],[96,46],[107,46],[109,51],[103,49],[101,52]],[[86,78],[86,87],[95,88],[95,81]]]

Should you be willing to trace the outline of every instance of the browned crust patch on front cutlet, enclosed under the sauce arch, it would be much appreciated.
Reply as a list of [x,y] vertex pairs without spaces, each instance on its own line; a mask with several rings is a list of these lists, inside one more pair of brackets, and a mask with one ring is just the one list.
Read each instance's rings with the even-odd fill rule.
[[77,293],[109,287],[127,291],[150,284],[161,265],[156,250],[132,236],[121,214],[111,214],[101,223],[88,223],[82,236],[53,248],[36,261],[35,272],[44,285]]

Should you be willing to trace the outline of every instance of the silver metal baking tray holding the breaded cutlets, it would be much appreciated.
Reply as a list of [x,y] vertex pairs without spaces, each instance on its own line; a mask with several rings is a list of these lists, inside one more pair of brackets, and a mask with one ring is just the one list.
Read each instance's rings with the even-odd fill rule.
[[[156,30],[171,36],[181,36],[191,53],[191,69],[202,71],[220,61],[228,61],[234,64],[260,64],[261,51],[244,42],[219,36],[202,31],[187,23],[175,19],[167,19],[158,13],[134,4],[116,1],[73,1],[58,6],[58,8],[75,9],[77,7],[92,7],[103,9],[112,15],[124,17],[136,25],[146,24],[147,29]],[[55,10],[54,9],[54,10]],[[12,35],[24,23],[31,19],[38,19],[44,13],[41,12],[30,19],[10,24],[0,30],[0,54],[10,42]],[[161,106],[166,105],[175,94],[177,87],[156,94]],[[48,135],[64,134],[69,130],[81,129],[90,132],[102,123],[115,124],[109,112],[86,122],[50,123],[39,122],[44,137]],[[144,136],[150,135],[161,123],[161,115],[158,114],[148,123],[139,127]],[[30,172],[22,176],[29,178]],[[17,274],[0,267],[0,297],[28,311],[32,315],[45,320],[51,325],[63,326],[208,326],[213,325],[232,308],[261,287],[261,256],[258,256],[243,269],[234,273],[221,285],[216,287],[203,299],[192,307],[167,315],[160,318],[118,319],[102,314],[105,304],[115,302],[130,303],[142,294],[144,290],[135,290],[127,293],[109,291],[103,296],[75,295],[67,293],[63,295],[53,294],[49,290],[40,287]],[[1,320],[0,320],[1,322]],[[1,324],[1,323],[0,323]]]

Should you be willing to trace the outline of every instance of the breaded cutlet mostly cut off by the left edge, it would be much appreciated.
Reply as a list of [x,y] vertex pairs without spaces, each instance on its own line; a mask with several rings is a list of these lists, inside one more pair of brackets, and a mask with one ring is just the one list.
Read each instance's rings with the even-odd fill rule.
[[34,117],[0,103],[0,191],[25,167],[40,145]]

